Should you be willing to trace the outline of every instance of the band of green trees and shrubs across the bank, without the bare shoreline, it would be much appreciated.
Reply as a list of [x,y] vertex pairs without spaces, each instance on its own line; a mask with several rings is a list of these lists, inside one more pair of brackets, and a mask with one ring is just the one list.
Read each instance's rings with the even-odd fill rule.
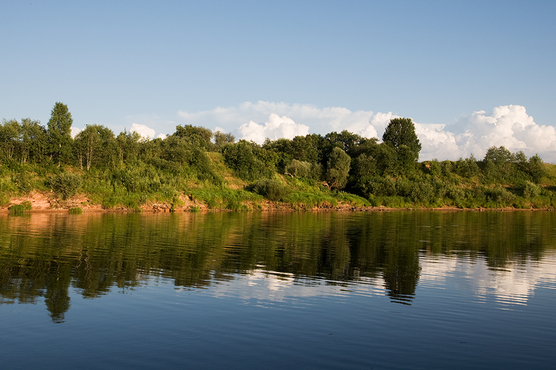
[[[81,180],[95,177],[106,185],[96,191],[133,193],[134,202],[141,203],[145,194],[181,192],[190,180],[224,185],[222,171],[211,157],[219,153],[234,176],[250,184],[247,190],[275,201],[291,191],[287,185],[300,183],[358,194],[373,205],[472,207],[553,198],[553,192],[540,185],[547,171],[539,155],[527,158],[523,151],[493,146],[482,160],[470,155],[457,161],[418,162],[421,144],[409,118],[391,119],[382,142],[341,131],[267,139],[262,145],[236,142],[229,133],[193,125],[177,126],[164,140],[147,140],[138,133],[115,135],[105,126],[89,124],[72,138],[72,124],[70,111],[59,102],[47,126],[32,119],[3,119],[0,163],[2,171],[16,174],[12,182],[17,189],[12,190],[40,189],[36,181],[31,184],[34,173],[47,178],[43,188],[58,188],[64,198],[80,186],[94,192],[83,188]],[[8,185],[0,184],[0,190],[10,190]]]

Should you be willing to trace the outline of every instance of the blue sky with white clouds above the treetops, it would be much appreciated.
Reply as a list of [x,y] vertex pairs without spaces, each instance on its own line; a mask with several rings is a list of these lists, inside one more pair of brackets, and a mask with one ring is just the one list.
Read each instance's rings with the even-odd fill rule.
[[556,1],[9,1],[0,118],[262,142],[410,117],[420,160],[556,162]]

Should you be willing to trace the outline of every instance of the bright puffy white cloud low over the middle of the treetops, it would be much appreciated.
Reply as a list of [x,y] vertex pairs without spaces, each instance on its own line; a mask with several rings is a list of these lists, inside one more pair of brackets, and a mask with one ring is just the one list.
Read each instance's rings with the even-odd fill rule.
[[282,137],[293,139],[295,136],[305,136],[309,134],[309,126],[296,124],[291,118],[280,117],[276,113],[272,113],[264,126],[249,121],[247,124],[241,125],[238,131],[242,139],[263,144],[266,137],[270,140],[277,140]]

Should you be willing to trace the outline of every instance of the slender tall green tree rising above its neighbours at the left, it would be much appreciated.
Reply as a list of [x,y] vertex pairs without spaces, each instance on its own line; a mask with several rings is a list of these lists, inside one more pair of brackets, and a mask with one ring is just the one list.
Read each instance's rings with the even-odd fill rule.
[[57,102],[52,108],[48,121],[48,135],[51,144],[51,158],[68,162],[72,158],[72,113],[64,103]]

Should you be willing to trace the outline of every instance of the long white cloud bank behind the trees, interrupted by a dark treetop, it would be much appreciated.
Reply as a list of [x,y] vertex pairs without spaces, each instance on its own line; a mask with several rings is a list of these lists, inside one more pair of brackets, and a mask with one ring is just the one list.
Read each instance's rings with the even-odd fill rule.
[[[245,102],[237,107],[188,113],[180,111],[185,124],[232,132],[238,139],[263,143],[265,137],[280,137],[332,131],[351,131],[364,137],[382,137],[390,119],[400,117],[393,112],[351,111],[341,107],[318,108],[308,104]],[[415,121],[415,120],[414,120]],[[556,162],[556,130],[536,124],[525,107],[499,106],[492,113],[484,110],[461,117],[451,124],[415,122],[423,149],[420,160],[457,160],[471,153],[481,159],[491,146],[506,146],[510,151],[539,153],[547,162]]]

